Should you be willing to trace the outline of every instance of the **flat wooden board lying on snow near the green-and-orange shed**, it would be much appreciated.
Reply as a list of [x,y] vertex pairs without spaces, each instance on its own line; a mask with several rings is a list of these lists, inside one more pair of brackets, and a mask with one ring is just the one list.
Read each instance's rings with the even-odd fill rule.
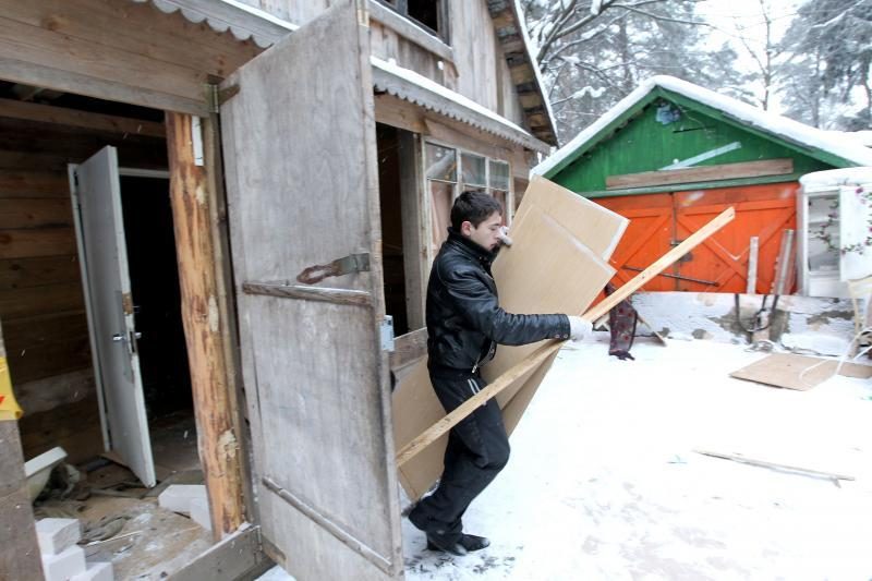
[[[835,375],[837,366],[838,361],[835,360],[773,353],[729,375],[737,379],[804,391]],[[843,363],[839,375],[867,379],[872,377],[872,365]]]

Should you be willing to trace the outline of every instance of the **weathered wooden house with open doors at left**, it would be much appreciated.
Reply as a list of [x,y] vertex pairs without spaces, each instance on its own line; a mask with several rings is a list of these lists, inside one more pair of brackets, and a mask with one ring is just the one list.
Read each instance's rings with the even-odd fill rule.
[[301,580],[401,578],[389,374],[423,349],[403,334],[447,209],[477,187],[510,219],[556,145],[517,3],[0,7],[25,458],[110,450],[150,486],[181,411],[226,537],[186,578],[261,552]]

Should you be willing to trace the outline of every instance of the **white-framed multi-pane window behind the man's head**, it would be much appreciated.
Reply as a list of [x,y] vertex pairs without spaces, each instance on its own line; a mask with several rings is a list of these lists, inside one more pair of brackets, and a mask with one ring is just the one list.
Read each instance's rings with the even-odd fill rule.
[[429,194],[431,247],[433,255],[448,238],[451,205],[461,192],[480,190],[502,205],[502,221],[511,221],[511,172],[508,161],[425,142],[424,162]]

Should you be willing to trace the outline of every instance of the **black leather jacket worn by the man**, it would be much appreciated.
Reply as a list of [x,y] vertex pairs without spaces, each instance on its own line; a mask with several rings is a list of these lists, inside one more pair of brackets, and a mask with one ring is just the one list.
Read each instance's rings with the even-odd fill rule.
[[494,359],[497,343],[568,339],[566,315],[513,315],[500,308],[491,253],[448,229],[427,285],[429,365],[475,371]]

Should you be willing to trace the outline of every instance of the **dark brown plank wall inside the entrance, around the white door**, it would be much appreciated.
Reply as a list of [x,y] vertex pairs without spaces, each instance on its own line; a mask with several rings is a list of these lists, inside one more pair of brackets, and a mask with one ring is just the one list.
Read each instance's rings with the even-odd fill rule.
[[0,117],[0,320],[26,458],[102,449],[66,165],[105,145],[166,168],[162,138]]

